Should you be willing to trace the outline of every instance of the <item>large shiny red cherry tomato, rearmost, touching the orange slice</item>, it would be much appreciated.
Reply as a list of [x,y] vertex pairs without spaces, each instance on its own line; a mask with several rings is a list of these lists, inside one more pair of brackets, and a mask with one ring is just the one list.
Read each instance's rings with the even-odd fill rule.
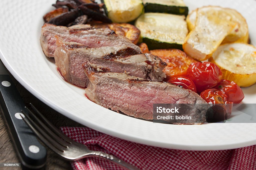
[[187,76],[195,83],[196,89],[200,93],[216,86],[221,80],[222,72],[214,63],[195,62],[188,67]]

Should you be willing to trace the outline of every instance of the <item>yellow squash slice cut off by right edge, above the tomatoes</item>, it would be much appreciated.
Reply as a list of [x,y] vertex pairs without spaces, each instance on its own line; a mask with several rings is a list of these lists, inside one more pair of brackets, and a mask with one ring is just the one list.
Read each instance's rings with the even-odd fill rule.
[[209,59],[219,66],[222,79],[236,82],[241,87],[256,83],[256,48],[250,44],[224,44]]

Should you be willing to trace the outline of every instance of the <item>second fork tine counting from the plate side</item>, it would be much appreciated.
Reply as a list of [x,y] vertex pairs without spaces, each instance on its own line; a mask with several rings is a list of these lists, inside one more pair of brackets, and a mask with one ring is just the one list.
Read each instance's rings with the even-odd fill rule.
[[25,108],[26,108],[26,110],[29,112],[30,116],[33,117],[33,118],[37,121],[37,123],[39,123],[39,125],[41,125],[41,126],[45,129],[45,131],[47,131],[48,134],[49,134],[52,138],[56,139],[56,141],[57,141],[60,145],[62,145],[63,147],[67,148],[67,143],[66,143],[65,140],[61,139],[58,135],[56,135],[55,133],[53,133],[53,132],[51,131],[51,129],[49,129],[44,123],[42,123],[42,121],[40,121],[27,107],[25,107]]

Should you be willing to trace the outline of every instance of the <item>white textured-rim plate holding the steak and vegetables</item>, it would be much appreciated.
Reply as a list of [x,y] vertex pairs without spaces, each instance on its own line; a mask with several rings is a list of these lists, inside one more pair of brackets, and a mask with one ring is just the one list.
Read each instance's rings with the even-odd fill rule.
[[[51,7],[54,2],[1,2],[1,59],[13,76],[41,101],[83,125],[146,145],[184,150],[219,150],[256,144],[255,123],[158,124],[118,114],[89,101],[84,96],[84,89],[61,79],[54,61],[42,52],[39,43],[42,16],[54,9]],[[185,3],[190,11],[203,5],[237,9],[247,19],[251,42],[256,45],[255,0],[186,0]],[[256,103],[256,85],[243,91],[245,103]]]

